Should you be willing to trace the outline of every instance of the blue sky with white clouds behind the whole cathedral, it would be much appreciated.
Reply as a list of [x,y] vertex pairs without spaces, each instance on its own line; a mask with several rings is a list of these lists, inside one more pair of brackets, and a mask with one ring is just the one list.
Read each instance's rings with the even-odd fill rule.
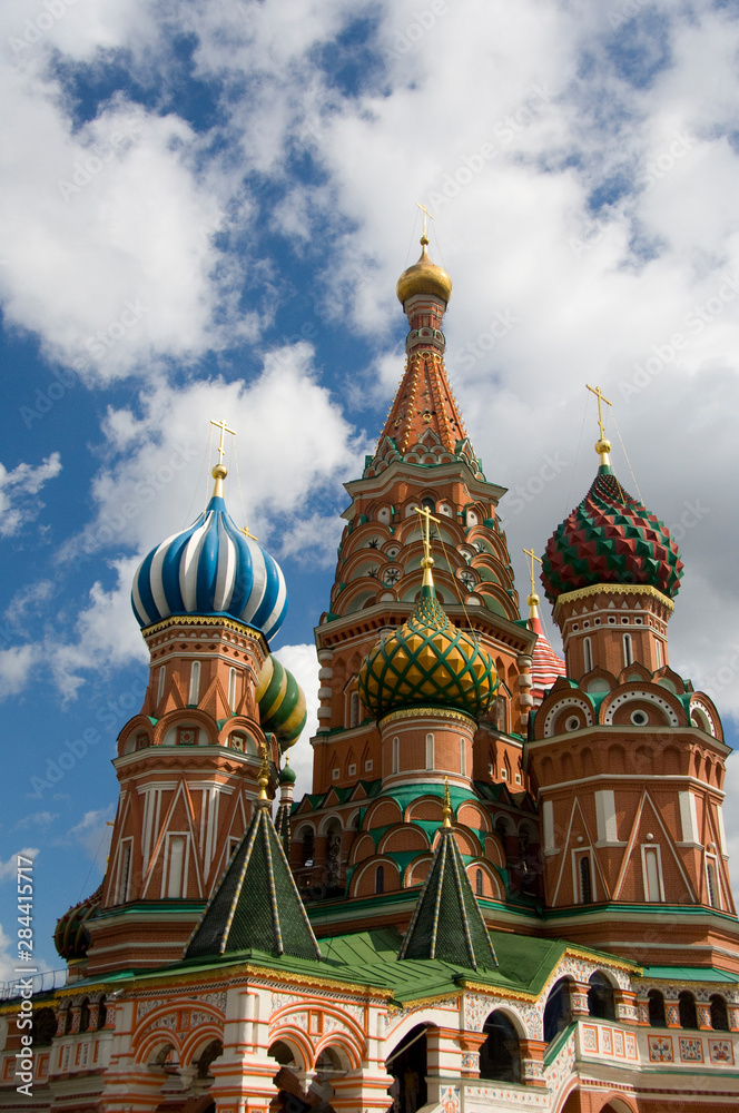
[[[511,490],[521,593],[521,549],[543,551],[594,474],[598,382],[619,476],[683,551],[671,663],[736,737],[738,16],[3,6],[0,947],[19,849],[38,851],[49,966],[57,916],[99,881],[110,758],[146,681],[130,579],[204,503],[210,417],[238,431],[229,508],[280,561],[275,648],[315,706],[342,483],[402,373],[416,200],[454,282],[450,377]],[[307,788],[307,735],[296,764]]]

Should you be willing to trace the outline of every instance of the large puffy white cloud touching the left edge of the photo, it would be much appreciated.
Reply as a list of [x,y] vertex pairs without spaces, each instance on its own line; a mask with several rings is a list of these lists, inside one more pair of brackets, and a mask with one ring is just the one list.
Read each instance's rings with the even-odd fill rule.
[[227,219],[189,125],[119,98],[75,130],[51,79],[0,67],[3,83],[13,104],[0,124],[8,324],[96,383],[254,336],[257,316],[231,305],[242,268],[215,245]]

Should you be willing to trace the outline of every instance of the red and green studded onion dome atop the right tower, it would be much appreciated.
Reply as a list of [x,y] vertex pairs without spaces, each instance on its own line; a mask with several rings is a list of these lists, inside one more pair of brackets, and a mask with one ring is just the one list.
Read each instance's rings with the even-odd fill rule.
[[646,585],[673,599],[681,575],[668,528],[624,491],[610,464],[601,464],[585,498],[549,539],[541,582],[552,603],[599,583]]

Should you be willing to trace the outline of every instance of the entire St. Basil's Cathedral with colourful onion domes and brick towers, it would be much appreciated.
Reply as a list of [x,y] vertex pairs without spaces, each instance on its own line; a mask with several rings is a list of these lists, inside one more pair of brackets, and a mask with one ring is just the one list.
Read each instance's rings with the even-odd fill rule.
[[670,664],[678,548],[601,422],[590,490],[530,553],[564,659],[533,572],[522,618],[505,489],[445,371],[452,283],[421,244],[405,371],[316,612],[313,790],[293,798],[305,697],[269,651],[286,584],[230,518],[219,452],[206,511],[134,580],[151,663],[108,867],[57,925],[32,1097],[2,1004],[6,1111],[737,1109],[730,749]]

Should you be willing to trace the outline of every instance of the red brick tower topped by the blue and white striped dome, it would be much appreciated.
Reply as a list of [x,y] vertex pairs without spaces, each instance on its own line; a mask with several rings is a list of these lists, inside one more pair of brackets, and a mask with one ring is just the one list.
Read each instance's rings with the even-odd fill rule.
[[282,572],[228,515],[221,463],[213,475],[207,510],[134,580],[149,686],[118,738],[101,893],[65,952],[88,976],[181,957],[248,827],[265,747],[278,767],[305,722],[303,693],[268,649],[287,608]]

